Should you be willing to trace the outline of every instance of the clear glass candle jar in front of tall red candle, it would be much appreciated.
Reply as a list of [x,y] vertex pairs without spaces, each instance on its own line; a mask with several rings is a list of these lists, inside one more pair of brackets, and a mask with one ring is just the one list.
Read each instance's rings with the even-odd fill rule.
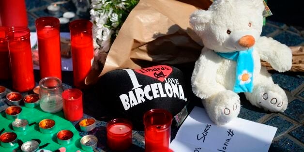
[[61,80],[58,77],[45,77],[39,81],[39,86],[41,109],[48,113],[59,112],[62,109]]

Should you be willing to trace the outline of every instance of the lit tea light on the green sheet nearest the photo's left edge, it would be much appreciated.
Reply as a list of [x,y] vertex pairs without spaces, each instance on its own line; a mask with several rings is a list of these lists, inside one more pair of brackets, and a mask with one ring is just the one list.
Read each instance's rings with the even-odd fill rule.
[[0,136],[0,145],[4,148],[14,147],[17,141],[17,134],[13,132],[6,132]]

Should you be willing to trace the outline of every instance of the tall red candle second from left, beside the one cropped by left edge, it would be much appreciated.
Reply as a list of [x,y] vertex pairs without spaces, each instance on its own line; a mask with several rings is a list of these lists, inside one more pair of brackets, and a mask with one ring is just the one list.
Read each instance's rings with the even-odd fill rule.
[[9,28],[8,47],[13,89],[19,92],[32,90],[35,87],[35,80],[31,58],[29,28]]

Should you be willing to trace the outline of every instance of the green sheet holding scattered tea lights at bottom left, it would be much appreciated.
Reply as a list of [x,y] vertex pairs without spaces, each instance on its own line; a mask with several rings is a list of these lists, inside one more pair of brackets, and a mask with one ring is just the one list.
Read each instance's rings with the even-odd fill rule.
[[[18,115],[18,119],[15,119],[14,117],[9,117],[8,119],[6,113],[9,113],[10,111],[1,112],[1,117],[0,117],[1,134],[12,132],[11,133],[12,135],[17,136],[17,140],[15,140],[15,142],[17,143],[15,145],[12,144],[13,147],[10,147],[12,145],[8,145],[8,143],[3,144],[1,142],[2,146],[0,146],[0,152],[12,152],[13,150],[17,150],[17,152],[19,151],[21,152],[22,143],[25,143],[30,140],[36,140],[39,143],[39,149],[55,151],[61,147],[65,147],[66,152],[76,152],[77,150],[83,151],[80,145],[81,137],[79,136],[79,132],[76,130],[76,128],[73,126],[71,122],[64,119],[62,110],[57,113],[46,113],[39,106],[36,106],[35,108],[19,106],[17,108],[19,108],[19,111],[21,109],[21,112]],[[14,115],[14,113],[11,115]],[[24,122],[18,122],[20,120],[23,120],[25,122],[27,120],[25,124],[28,125],[25,125]],[[14,123],[12,124],[12,122]],[[41,123],[39,124],[39,122]],[[20,125],[21,123],[24,126],[20,128],[20,126],[22,126]],[[53,125],[53,127],[48,128],[48,125]],[[44,129],[45,127],[47,129]],[[19,130],[17,128],[19,128]],[[67,140],[59,141],[57,139],[57,133],[61,130],[71,131],[73,133],[72,134],[73,137],[68,141]],[[69,132],[70,135],[71,132]],[[64,134],[62,135],[64,136]],[[9,137],[9,134],[6,136]],[[3,139],[5,138],[5,136],[1,138]],[[67,145],[59,144],[59,143],[66,144],[67,142],[69,143]],[[8,148],[4,148],[3,145],[4,147],[8,147]]]

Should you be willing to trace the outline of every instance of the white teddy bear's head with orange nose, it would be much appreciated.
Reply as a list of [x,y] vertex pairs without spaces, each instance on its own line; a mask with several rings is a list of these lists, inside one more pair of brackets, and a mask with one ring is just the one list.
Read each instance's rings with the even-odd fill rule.
[[214,0],[207,11],[190,15],[190,25],[216,52],[247,50],[261,34],[264,8],[263,0]]

